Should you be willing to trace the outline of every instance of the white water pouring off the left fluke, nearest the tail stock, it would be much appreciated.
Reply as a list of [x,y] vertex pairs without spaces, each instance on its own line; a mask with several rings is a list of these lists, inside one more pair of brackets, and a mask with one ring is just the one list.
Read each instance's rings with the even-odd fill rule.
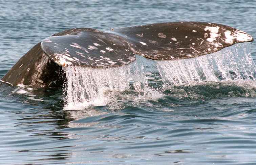
[[66,67],[67,95],[64,110],[109,105],[113,101],[120,101],[122,98],[118,98],[118,95],[131,88],[137,92],[137,97],[131,98],[133,101],[145,97],[161,97],[161,93],[148,86],[147,65],[141,63],[144,57],[137,58],[132,64],[116,68]]

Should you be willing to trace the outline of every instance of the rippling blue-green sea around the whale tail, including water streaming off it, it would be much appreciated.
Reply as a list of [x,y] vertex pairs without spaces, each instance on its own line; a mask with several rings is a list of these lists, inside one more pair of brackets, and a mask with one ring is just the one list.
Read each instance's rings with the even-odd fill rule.
[[[0,0],[0,77],[65,29],[172,21],[256,37],[256,1]],[[255,62],[253,42],[188,60],[69,67],[65,89],[0,82],[0,164],[254,165]]]

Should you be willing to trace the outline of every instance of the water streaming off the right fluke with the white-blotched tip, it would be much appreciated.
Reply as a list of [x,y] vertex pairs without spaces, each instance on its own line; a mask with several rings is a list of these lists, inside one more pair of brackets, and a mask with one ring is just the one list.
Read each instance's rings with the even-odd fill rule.
[[236,44],[193,59],[157,61],[164,85],[195,85],[198,82],[254,79],[255,64],[250,44]]

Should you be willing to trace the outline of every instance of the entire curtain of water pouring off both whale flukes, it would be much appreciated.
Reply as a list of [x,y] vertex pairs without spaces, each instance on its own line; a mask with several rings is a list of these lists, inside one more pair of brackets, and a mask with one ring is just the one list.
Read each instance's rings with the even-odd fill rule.
[[172,86],[205,81],[240,81],[255,77],[250,44],[236,44],[216,53],[177,61],[155,61],[141,56],[136,58],[135,62],[116,68],[66,67],[67,95],[64,109],[107,105],[126,96],[132,101],[156,99],[163,95],[163,90]]

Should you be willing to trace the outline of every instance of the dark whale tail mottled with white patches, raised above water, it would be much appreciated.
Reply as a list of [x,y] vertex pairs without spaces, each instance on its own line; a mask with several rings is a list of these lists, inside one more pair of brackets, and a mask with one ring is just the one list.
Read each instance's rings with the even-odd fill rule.
[[108,32],[74,28],[35,45],[7,72],[2,81],[18,85],[58,86],[62,67],[118,67],[135,54],[152,60],[179,60],[217,52],[253,37],[241,30],[207,22],[167,22]]

